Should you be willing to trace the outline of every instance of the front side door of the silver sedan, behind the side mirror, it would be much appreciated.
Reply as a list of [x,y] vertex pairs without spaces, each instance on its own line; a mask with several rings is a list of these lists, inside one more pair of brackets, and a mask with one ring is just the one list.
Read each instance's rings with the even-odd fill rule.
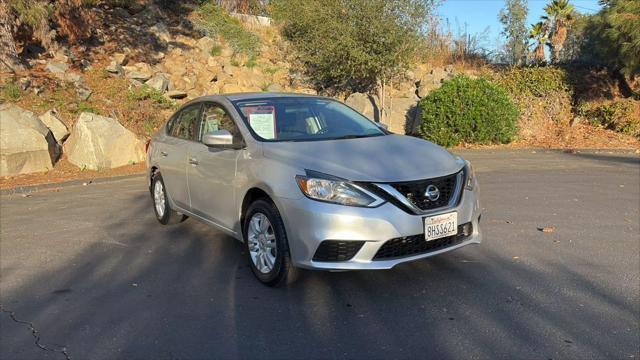
[[[238,221],[236,206],[237,159],[242,155],[242,135],[229,112],[220,104],[205,102],[200,115],[197,141],[189,147],[188,179],[191,211],[229,230]],[[234,145],[209,147],[202,143],[207,132],[227,130]]]

